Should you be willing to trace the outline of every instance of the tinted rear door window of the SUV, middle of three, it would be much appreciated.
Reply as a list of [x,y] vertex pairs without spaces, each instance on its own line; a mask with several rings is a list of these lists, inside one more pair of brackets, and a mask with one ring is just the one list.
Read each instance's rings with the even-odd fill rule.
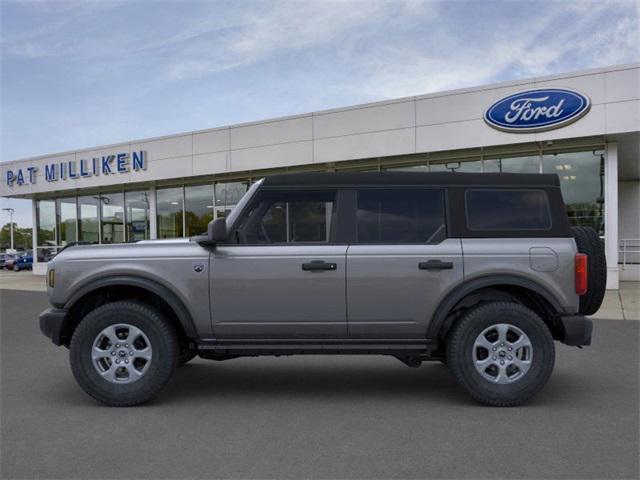
[[358,191],[358,243],[438,243],[446,238],[441,189]]

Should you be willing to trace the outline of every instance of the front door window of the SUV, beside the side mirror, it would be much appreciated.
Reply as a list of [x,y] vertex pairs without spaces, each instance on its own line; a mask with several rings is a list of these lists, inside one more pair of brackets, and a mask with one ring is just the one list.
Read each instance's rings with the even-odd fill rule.
[[239,243],[326,243],[335,217],[335,192],[262,192],[241,220]]

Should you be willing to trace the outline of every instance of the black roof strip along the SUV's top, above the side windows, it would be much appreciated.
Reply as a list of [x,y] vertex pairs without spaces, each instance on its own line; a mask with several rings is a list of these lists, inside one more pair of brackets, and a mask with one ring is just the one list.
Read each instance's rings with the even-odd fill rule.
[[559,187],[558,176],[548,173],[458,173],[458,172],[313,172],[285,173],[265,177],[265,186],[546,186]]

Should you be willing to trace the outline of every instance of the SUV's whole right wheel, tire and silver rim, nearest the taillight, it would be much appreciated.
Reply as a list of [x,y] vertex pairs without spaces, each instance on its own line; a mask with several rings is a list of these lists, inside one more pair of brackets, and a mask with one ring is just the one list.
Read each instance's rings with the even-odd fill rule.
[[466,312],[447,337],[447,365],[486,405],[520,405],[547,383],[555,362],[553,337],[532,310],[491,302]]

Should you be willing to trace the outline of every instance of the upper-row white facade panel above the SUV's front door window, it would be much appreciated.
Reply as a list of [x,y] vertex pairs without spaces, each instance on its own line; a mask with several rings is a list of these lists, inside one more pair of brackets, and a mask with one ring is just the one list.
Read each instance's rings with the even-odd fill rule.
[[312,138],[311,115],[231,128],[231,149],[300,142]]

